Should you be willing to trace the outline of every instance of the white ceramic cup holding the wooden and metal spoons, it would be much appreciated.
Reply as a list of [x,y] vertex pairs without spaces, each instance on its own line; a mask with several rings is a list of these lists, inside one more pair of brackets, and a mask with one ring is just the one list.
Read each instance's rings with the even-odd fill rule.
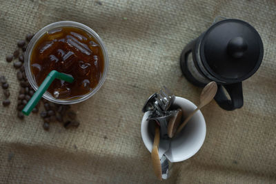
[[[195,104],[188,101],[187,99],[176,96],[173,106],[178,106],[182,109],[184,119],[197,108]],[[146,119],[148,118],[149,112],[146,112],[141,121],[141,136],[144,141],[144,145],[149,152],[152,151],[152,144],[155,132],[155,123],[149,123]],[[183,120],[183,119],[182,119]],[[196,154],[200,147],[204,143],[206,136],[206,124],[202,113],[197,111],[193,118],[188,121],[175,138],[172,139],[171,146],[168,149],[168,141],[159,144],[159,159],[163,154],[166,155],[170,162],[179,162],[189,159],[191,156]]]

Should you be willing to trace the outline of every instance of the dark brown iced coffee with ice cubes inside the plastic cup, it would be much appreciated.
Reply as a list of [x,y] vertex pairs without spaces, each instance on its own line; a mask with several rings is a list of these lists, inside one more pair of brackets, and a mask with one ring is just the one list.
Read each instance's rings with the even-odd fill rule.
[[34,45],[30,66],[38,85],[52,70],[72,75],[73,83],[55,79],[48,92],[57,99],[75,99],[98,85],[104,61],[99,43],[88,32],[79,28],[55,28]]

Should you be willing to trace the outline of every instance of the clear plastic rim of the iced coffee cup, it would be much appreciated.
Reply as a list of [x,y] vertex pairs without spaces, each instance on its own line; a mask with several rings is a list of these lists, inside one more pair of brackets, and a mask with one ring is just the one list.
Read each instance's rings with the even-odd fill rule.
[[88,34],[91,34],[92,37],[97,40],[97,42],[99,43],[99,45],[101,47],[101,51],[103,52],[103,60],[104,60],[103,74],[102,74],[101,79],[99,80],[99,83],[96,86],[96,88],[94,88],[88,94],[83,94],[83,96],[81,96],[79,98],[76,98],[76,99],[56,99],[54,96],[52,96],[52,94],[50,94],[47,91],[43,94],[43,98],[47,99],[48,101],[52,101],[54,103],[59,103],[59,104],[80,103],[81,101],[85,101],[85,100],[89,99],[91,96],[93,96],[99,90],[99,88],[101,88],[101,85],[103,85],[104,81],[106,80],[106,75],[108,73],[108,53],[106,51],[106,46],[104,45],[104,43],[101,40],[101,38],[99,37],[99,35],[94,30],[89,28],[88,26],[86,26],[82,23],[75,22],[75,21],[59,21],[59,22],[50,23],[49,25],[46,25],[44,28],[42,28],[36,34],[34,34],[34,37],[32,37],[32,40],[28,44],[28,47],[27,47],[26,52],[25,52],[24,68],[25,68],[26,76],[27,76],[27,79],[28,79],[30,85],[32,86],[32,88],[35,91],[37,91],[37,89],[39,87],[37,85],[37,82],[34,79],[34,76],[32,75],[31,70],[30,70],[30,57],[31,57],[31,54],[32,54],[32,50],[34,48],[34,45],[37,43],[37,41],[39,41],[39,39],[44,34],[46,34],[47,31],[52,30],[54,28],[62,28],[62,27],[80,28],[81,30],[84,30],[84,31],[88,32]]

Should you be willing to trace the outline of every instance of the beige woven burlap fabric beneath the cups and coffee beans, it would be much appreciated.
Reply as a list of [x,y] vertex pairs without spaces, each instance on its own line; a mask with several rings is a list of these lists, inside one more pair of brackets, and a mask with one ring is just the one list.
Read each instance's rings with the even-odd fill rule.
[[[140,135],[144,101],[162,85],[199,104],[201,89],[181,75],[184,46],[217,16],[243,19],[264,42],[264,61],[244,81],[244,107],[202,113],[206,141],[188,161],[175,163],[164,183],[276,182],[275,1],[0,1],[0,72],[12,103],[0,107],[1,183],[158,183]],[[19,83],[7,54],[17,40],[48,23],[78,21],[106,43],[110,68],[95,96],[73,105],[81,125],[42,128],[39,115],[17,119]],[[0,89],[1,90],[1,89]],[[0,92],[0,99],[3,99]]]

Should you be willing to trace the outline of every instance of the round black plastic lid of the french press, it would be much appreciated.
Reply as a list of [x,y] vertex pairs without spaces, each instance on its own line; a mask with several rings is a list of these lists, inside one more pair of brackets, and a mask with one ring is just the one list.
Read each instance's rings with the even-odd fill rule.
[[212,25],[200,45],[201,61],[215,78],[238,82],[253,75],[264,48],[258,32],[245,21],[225,19]]

